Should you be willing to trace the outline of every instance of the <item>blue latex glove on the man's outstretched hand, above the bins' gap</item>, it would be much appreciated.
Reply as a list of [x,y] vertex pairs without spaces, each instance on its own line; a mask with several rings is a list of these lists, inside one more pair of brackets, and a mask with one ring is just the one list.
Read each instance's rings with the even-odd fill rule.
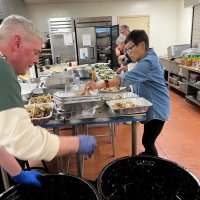
[[79,135],[79,154],[85,154],[91,156],[96,149],[96,139],[94,136]]

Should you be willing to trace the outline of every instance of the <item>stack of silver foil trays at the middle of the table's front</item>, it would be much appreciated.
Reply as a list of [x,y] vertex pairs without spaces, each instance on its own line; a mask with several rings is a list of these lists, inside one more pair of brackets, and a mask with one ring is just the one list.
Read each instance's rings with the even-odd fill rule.
[[77,96],[77,92],[54,93],[55,109],[59,113],[79,112],[99,106],[101,96],[94,93],[90,96]]

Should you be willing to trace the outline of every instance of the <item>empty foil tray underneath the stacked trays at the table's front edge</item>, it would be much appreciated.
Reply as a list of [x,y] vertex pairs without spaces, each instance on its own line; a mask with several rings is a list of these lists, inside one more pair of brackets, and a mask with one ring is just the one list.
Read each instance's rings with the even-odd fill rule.
[[82,119],[85,117],[92,117],[96,112],[96,107],[87,110],[80,110],[76,112],[59,112],[64,119]]

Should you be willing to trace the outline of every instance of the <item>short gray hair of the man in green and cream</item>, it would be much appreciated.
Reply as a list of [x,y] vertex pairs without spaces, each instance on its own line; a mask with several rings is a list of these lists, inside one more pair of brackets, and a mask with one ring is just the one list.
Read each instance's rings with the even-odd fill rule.
[[31,21],[19,15],[10,15],[0,25],[0,39],[9,37],[11,34],[23,32],[24,35],[31,35],[43,40],[42,33]]

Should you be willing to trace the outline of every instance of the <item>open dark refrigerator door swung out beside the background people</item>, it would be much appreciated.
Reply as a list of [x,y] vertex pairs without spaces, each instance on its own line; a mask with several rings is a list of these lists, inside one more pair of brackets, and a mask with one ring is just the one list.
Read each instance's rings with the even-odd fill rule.
[[118,58],[115,53],[116,40],[119,36],[119,25],[114,25],[111,27],[111,66],[113,69],[119,67]]

